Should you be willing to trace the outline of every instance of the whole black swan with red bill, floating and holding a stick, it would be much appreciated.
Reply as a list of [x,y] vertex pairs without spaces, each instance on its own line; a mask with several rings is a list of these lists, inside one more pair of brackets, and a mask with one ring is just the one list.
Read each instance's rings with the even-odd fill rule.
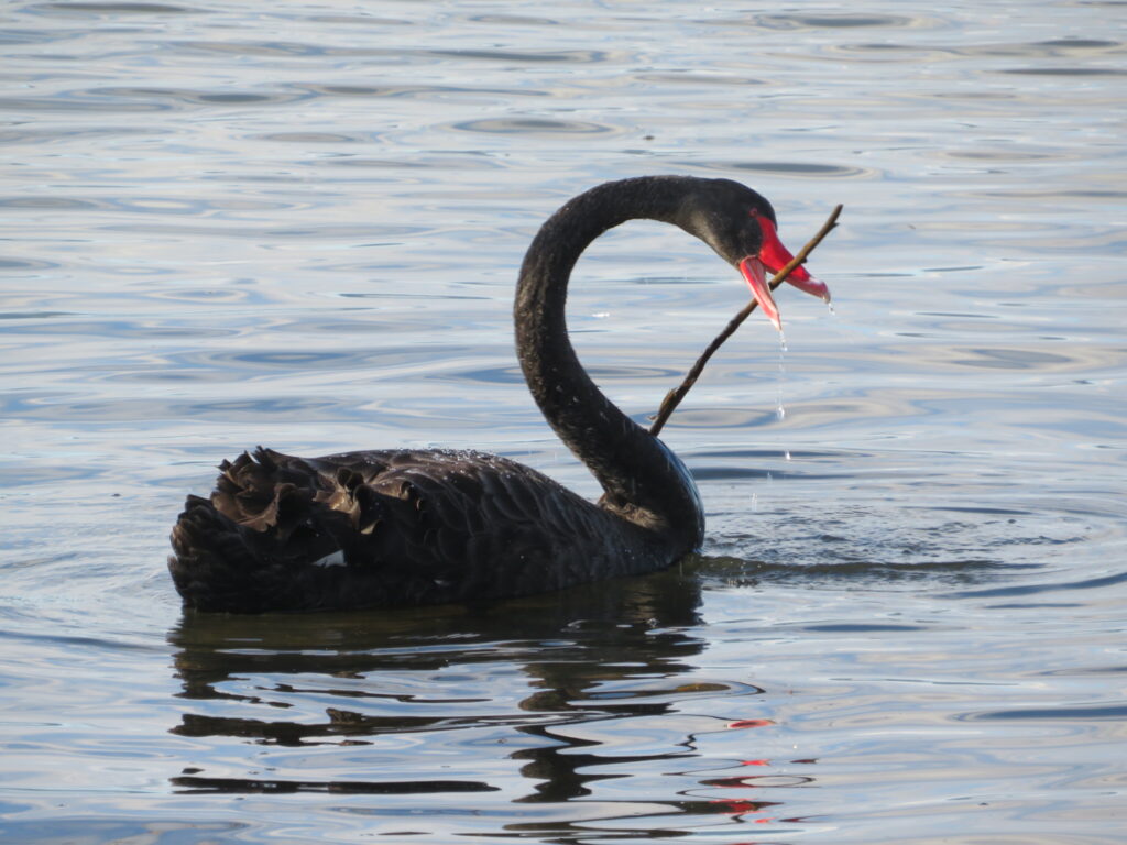
[[[268,448],[220,465],[189,496],[169,570],[184,604],[260,613],[503,598],[648,572],[698,550],[704,513],[685,465],[618,409],[568,340],[571,268],[606,230],[658,220],[708,243],[778,312],[764,284],[790,254],[760,194],[727,179],[653,176],[600,185],[541,226],[516,288],[529,389],[604,490],[597,504],[497,455],[381,450],[291,457]],[[789,279],[823,297],[799,268]]]

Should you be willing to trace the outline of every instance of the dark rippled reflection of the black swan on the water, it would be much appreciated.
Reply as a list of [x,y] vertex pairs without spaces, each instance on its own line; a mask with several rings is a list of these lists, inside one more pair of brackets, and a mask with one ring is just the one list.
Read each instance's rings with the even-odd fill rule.
[[[232,746],[221,744],[215,772],[196,765],[172,783],[183,791],[225,793],[492,792],[498,788],[489,773],[511,770],[506,762],[515,760],[533,784],[512,800],[535,803],[580,798],[591,793],[592,782],[629,773],[620,768],[622,774],[607,774],[607,766],[633,771],[649,762],[649,770],[671,771],[678,765],[672,760],[695,756],[691,737],[672,726],[653,751],[633,755],[576,733],[603,720],[616,720],[613,729],[627,732],[631,719],[646,718],[653,726],[653,717],[675,713],[676,703],[700,692],[762,692],[744,687],[733,693],[724,685],[704,690],[678,681],[704,648],[694,632],[700,601],[699,579],[674,569],[485,608],[296,616],[187,613],[169,639],[178,649],[179,695],[197,706],[183,714],[175,733],[250,740],[236,749],[341,746],[348,763],[328,767],[337,772],[355,771],[363,759],[348,746],[406,737],[412,740],[411,751],[390,771],[412,779],[312,780],[287,766],[275,766],[265,777],[260,773],[269,767],[261,765],[260,755],[248,755],[245,773],[232,771]],[[507,681],[490,690],[487,678],[483,687],[476,668],[498,665]],[[500,738],[474,740],[480,738],[474,728],[491,731],[490,737],[499,731]],[[469,771],[483,777],[434,779],[419,772],[414,755],[433,744],[449,750],[450,731],[461,731],[455,741],[465,745],[459,754],[477,758],[480,765]],[[494,759],[481,759],[490,754]],[[323,763],[318,771],[327,771]],[[671,803],[677,815],[727,810],[692,799],[664,802]]]

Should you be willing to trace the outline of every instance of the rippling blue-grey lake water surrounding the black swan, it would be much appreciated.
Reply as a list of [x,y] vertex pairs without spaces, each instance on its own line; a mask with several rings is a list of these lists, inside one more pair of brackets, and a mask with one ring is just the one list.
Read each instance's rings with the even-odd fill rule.
[[[9,2],[0,839],[1121,843],[1127,6]],[[600,181],[772,198],[663,437],[699,559],[486,608],[186,615],[266,444],[497,451],[516,268]],[[746,301],[656,223],[570,324],[642,420]],[[779,409],[784,413],[780,413]]]

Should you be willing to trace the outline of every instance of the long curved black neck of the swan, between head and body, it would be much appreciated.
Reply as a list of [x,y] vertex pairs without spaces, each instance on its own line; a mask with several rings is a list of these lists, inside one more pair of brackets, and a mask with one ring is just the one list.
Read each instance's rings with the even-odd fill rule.
[[687,543],[703,539],[700,496],[684,464],[595,386],[576,357],[565,322],[567,285],[584,249],[607,229],[650,219],[696,229],[684,211],[690,177],[607,183],[568,202],[529,247],[514,318],[521,367],[560,439],[606,491],[604,505]]

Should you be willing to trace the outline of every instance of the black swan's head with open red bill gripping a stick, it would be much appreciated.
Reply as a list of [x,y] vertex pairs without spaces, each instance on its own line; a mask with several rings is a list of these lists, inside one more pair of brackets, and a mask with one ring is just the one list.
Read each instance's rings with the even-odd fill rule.
[[[793,256],[779,240],[774,208],[765,197],[730,179],[701,180],[689,203],[690,224],[685,228],[738,268],[752,294],[774,327],[782,330],[779,309],[771,295],[766,272],[775,274]],[[787,282],[800,291],[829,302],[829,288],[798,266]]]

